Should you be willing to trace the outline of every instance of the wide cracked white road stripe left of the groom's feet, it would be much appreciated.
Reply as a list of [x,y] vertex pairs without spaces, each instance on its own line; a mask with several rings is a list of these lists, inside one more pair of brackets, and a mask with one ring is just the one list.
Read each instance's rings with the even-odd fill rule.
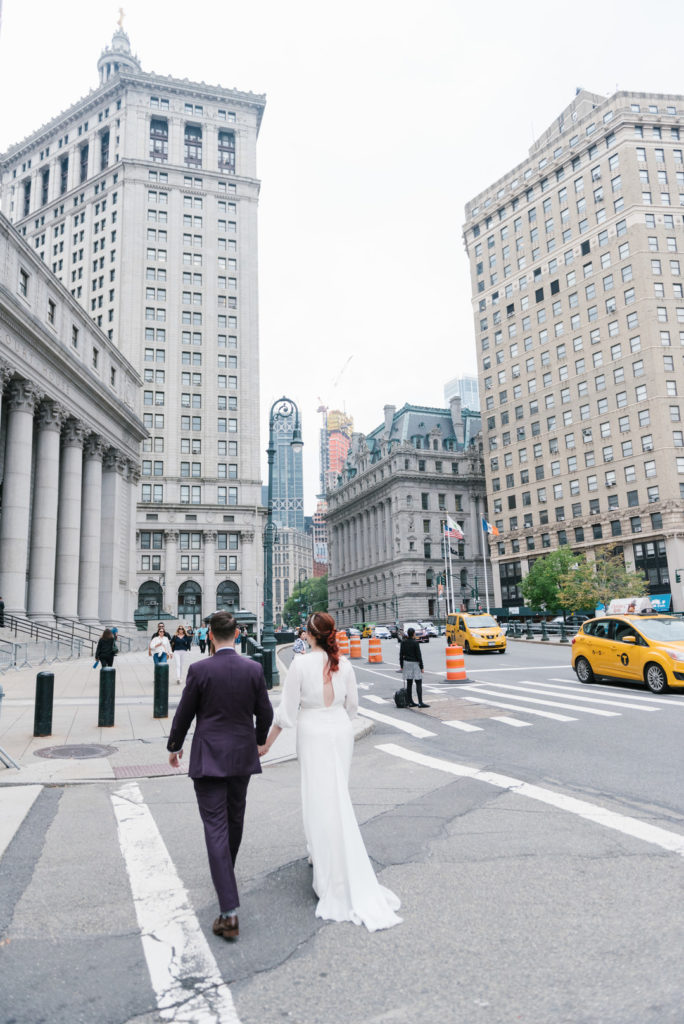
[[240,1024],[230,989],[137,783],[117,790],[112,803],[161,1018],[174,1024]]

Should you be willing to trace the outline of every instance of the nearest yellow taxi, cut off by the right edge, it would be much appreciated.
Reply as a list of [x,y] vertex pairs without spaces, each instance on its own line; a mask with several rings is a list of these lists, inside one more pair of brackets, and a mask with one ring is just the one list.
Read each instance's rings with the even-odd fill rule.
[[652,693],[684,687],[684,621],[643,612],[590,618],[572,638],[572,668],[581,683],[604,676]]

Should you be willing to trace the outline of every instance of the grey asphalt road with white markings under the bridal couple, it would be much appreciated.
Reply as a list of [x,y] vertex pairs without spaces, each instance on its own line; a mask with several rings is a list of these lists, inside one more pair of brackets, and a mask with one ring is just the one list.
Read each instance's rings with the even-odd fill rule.
[[314,918],[296,762],[250,787],[236,945],[186,778],[47,787],[0,860],[0,1022],[681,1024],[684,694],[524,642],[447,684],[438,640],[431,707],[398,711],[383,650],[352,795],[402,925]]

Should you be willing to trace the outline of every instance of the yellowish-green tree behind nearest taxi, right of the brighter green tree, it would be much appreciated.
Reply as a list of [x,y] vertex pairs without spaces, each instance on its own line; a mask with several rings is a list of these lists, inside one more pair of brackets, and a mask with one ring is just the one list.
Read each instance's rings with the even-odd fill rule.
[[608,607],[617,597],[643,597],[648,593],[648,582],[643,572],[631,572],[625,565],[622,551],[614,545],[599,548],[593,562],[583,559],[560,580],[560,607],[592,609],[603,604]]

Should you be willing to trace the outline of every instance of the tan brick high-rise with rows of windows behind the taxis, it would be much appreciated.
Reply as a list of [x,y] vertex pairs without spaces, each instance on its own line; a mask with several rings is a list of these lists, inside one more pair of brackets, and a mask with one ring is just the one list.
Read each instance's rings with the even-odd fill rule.
[[497,604],[614,543],[683,610],[684,97],[580,91],[464,237]]

